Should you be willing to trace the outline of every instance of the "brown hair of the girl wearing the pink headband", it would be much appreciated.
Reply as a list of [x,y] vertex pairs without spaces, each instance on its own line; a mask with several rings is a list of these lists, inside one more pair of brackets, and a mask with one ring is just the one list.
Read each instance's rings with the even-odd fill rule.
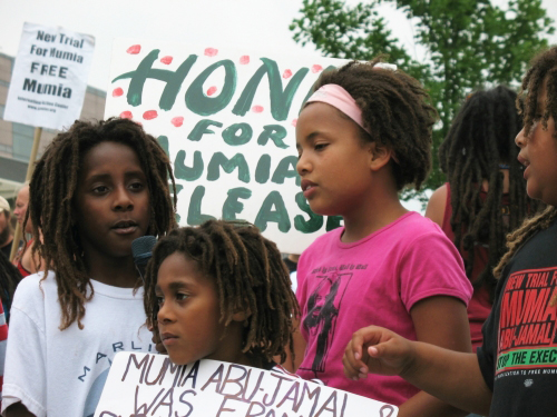
[[401,70],[375,67],[381,57],[370,62],[352,61],[324,71],[314,90],[324,85],[344,88],[362,110],[364,142],[377,142],[393,151],[392,171],[397,188],[407,185],[419,189],[431,168],[432,127],[436,109],[420,83]]

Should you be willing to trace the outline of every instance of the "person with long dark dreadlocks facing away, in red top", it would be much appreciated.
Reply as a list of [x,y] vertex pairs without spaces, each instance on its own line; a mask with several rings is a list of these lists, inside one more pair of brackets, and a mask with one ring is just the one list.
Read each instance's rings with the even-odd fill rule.
[[437,222],[465,260],[475,290],[468,305],[472,348],[491,311],[494,267],[505,254],[505,235],[537,203],[526,195],[515,138],[522,127],[517,93],[499,86],[467,99],[439,148],[448,182],[431,196],[426,217]]

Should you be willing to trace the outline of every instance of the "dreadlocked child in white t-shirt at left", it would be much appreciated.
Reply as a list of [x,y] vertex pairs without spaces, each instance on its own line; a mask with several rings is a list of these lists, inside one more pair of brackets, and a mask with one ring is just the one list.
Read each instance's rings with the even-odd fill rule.
[[163,148],[131,120],[76,121],[45,150],[29,216],[46,270],[13,298],[7,417],[92,416],[115,353],[154,350],[131,241],[175,227],[168,179]]

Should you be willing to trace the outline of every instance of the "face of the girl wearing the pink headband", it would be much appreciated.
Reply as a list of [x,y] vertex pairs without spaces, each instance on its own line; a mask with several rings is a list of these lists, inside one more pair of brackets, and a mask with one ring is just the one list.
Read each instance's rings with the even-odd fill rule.
[[349,216],[369,199],[370,145],[359,126],[334,107],[313,102],[296,123],[297,172],[311,209],[323,216]]

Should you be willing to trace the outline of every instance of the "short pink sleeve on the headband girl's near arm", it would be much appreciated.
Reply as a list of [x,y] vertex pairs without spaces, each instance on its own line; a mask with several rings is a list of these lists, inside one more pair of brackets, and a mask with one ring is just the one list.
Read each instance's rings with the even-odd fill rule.
[[456,297],[468,306],[473,289],[463,268],[457,248],[441,232],[414,239],[399,266],[400,294],[407,310],[434,296]]

